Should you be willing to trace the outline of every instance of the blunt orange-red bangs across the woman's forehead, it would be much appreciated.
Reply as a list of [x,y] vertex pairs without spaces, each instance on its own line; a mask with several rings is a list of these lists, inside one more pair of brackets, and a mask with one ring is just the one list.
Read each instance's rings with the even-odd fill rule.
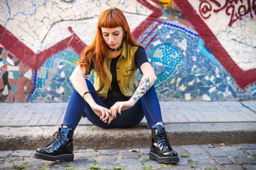
[[118,11],[111,9],[102,13],[98,20],[98,27],[102,28],[116,28],[122,27],[122,21],[118,16]]

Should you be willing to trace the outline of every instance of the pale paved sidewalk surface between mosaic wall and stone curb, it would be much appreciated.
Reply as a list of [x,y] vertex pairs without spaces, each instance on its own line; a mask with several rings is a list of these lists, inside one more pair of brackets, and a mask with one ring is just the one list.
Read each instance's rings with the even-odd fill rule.
[[[0,103],[0,127],[55,126],[68,103]],[[160,102],[164,123],[256,122],[256,101]],[[146,123],[144,118],[141,123]],[[79,125],[92,125],[85,117]]]

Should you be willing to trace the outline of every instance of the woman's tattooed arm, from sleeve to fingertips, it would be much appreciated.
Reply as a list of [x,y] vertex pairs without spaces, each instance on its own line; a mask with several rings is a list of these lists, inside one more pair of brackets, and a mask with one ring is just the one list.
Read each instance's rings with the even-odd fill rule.
[[135,103],[148,91],[148,89],[151,88],[151,86],[155,83],[157,80],[157,77],[155,75],[155,71],[152,68],[151,64],[148,62],[143,63],[140,66],[140,69],[143,73],[143,76],[140,80],[140,83],[135,90],[133,96],[129,101],[126,102],[117,102],[115,105],[113,105],[110,108],[110,113],[112,117],[116,117],[116,114],[121,114],[122,110],[129,109],[135,105]]

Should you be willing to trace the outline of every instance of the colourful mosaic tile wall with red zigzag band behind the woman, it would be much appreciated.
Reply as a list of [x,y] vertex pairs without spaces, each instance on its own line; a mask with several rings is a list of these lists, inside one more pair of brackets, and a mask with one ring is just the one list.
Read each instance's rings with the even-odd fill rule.
[[6,0],[0,101],[69,101],[74,64],[92,42],[100,13],[111,7],[123,11],[145,47],[159,100],[256,99],[254,0]]

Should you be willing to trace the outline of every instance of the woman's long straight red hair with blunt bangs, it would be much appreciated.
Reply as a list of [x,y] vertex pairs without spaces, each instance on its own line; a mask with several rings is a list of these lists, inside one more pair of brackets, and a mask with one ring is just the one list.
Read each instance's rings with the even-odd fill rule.
[[130,27],[128,22],[123,15],[122,11],[118,8],[111,8],[103,11],[98,20],[96,35],[91,43],[91,45],[87,46],[82,52],[79,63],[80,68],[84,67],[86,69],[86,76],[89,75],[89,66],[93,64],[94,71],[99,75],[100,79],[106,84],[106,80],[108,80],[108,76],[106,75],[106,71],[104,69],[104,58],[106,52],[106,42],[102,37],[102,32],[100,28],[116,28],[122,27],[125,34],[126,42],[131,46],[141,46],[137,43],[131,35]]

